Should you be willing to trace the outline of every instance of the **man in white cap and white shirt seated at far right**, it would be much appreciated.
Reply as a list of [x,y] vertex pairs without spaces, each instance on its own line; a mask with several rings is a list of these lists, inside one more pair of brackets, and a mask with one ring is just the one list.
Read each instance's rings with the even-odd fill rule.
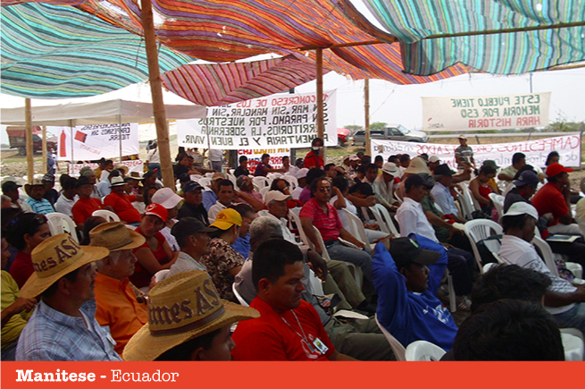
[[500,218],[505,235],[499,257],[507,263],[548,275],[553,283],[544,296],[545,308],[558,326],[585,331],[585,285],[573,285],[553,275],[539,257],[531,244],[538,219],[538,211],[530,204],[523,201],[512,204]]

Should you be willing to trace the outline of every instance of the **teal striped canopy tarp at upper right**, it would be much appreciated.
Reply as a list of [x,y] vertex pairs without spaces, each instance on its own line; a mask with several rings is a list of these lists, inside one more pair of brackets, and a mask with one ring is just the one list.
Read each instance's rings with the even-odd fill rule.
[[585,60],[583,0],[345,1],[399,39],[413,74],[455,63],[516,74]]

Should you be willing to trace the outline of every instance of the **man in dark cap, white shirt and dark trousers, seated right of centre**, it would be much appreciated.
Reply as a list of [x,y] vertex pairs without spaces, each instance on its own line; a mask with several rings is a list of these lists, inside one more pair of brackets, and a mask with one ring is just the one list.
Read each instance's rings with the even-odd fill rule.
[[[433,186],[434,182],[428,174],[412,174],[405,180],[405,200],[398,207],[396,214],[401,236],[417,233],[431,241],[439,242],[421,205]],[[472,272],[475,266],[472,254],[463,249],[456,249],[447,243],[441,244],[447,249],[447,268],[453,276],[455,294],[457,296],[469,294],[472,292]]]

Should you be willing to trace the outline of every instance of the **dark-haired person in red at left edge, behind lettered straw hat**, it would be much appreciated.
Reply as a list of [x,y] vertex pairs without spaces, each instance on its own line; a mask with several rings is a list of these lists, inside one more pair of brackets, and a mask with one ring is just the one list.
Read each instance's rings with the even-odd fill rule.
[[22,288],[29,276],[35,272],[30,253],[41,241],[51,236],[49,224],[46,223],[44,215],[22,213],[14,216],[6,225],[6,229],[8,230],[6,241],[18,249],[9,273],[18,287]]

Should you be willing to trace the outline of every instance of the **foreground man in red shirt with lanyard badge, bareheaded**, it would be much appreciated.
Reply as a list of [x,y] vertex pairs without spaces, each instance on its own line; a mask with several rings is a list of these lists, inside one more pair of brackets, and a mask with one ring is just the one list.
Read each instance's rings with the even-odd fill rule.
[[251,308],[260,317],[242,321],[232,339],[235,360],[355,360],[335,350],[319,314],[301,299],[303,254],[283,239],[264,241],[254,253]]

